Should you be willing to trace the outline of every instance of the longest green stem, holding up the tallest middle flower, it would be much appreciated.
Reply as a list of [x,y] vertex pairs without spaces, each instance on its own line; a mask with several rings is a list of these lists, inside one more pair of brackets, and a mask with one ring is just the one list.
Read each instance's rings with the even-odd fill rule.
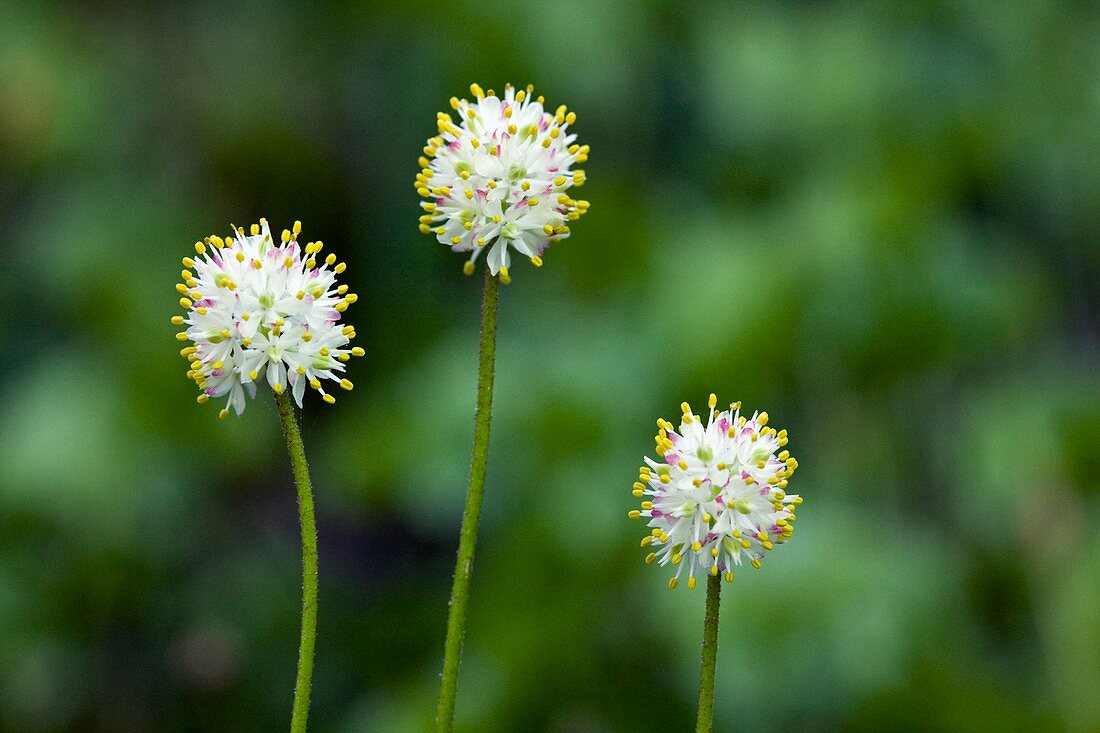
[[450,733],[454,725],[454,700],[459,687],[459,663],[462,637],[466,631],[466,606],[470,601],[470,576],[473,572],[474,547],[477,545],[477,519],[485,496],[485,467],[488,463],[488,427],[493,406],[493,362],[496,358],[496,310],[499,281],[485,267],[485,294],[482,300],[481,349],[477,362],[477,407],[474,412],[474,448],[470,461],[470,488],[466,507],[462,512],[459,535],[459,557],[454,564],[454,586],[447,615],[447,642],[443,645],[443,672],[436,708],[436,730]]

